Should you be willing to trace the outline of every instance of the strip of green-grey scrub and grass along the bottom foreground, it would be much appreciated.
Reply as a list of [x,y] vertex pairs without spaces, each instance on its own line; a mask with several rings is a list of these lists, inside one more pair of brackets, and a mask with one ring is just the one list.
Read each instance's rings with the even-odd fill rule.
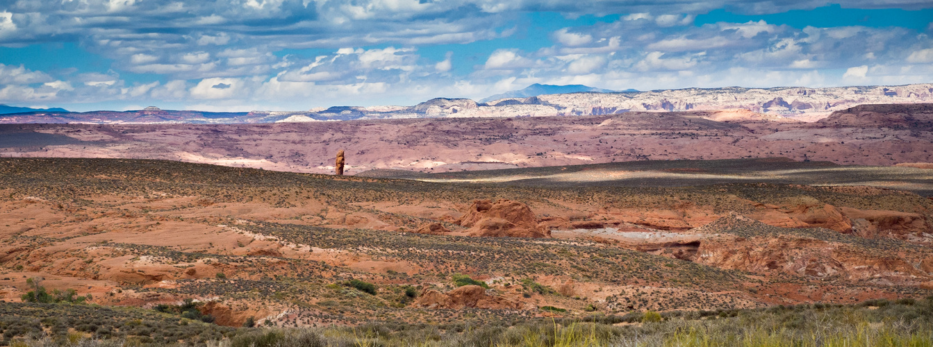
[[[471,322],[459,326],[382,322],[289,328],[186,323],[187,320],[177,318],[164,319],[171,315],[139,309],[74,312],[54,309],[63,306],[0,303],[0,330],[4,337],[0,344],[154,346],[183,341],[185,345],[230,347],[933,345],[931,299],[872,300],[856,305],[801,304],[732,310],[725,315],[716,311],[642,312],[625,316],[595,314],[582,319],[535,318],[478,326]],[[621,322],[641,324],[616,325]],[[69,335],[69,329],[89,333]]]

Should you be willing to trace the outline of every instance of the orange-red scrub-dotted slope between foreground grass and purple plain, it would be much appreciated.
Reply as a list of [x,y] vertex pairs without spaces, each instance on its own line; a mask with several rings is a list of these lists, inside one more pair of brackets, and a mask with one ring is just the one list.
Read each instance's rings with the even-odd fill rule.
[[[101,305],[192,298],[220,325],[320,326],[933,294],[933,202],[898,190],[517,187],[80,159],[0,160],[0,187],[7,301],[38,278]],[[514,223],[544,238],[476,236]],[[458,286],[476,281],[489,290]]]

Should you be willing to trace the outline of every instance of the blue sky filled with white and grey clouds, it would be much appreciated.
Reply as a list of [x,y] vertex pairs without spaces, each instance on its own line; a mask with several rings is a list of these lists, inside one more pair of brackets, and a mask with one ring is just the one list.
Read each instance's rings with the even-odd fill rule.
[[0,0],[0,103],[206,111],[933,82],[933,2]]

